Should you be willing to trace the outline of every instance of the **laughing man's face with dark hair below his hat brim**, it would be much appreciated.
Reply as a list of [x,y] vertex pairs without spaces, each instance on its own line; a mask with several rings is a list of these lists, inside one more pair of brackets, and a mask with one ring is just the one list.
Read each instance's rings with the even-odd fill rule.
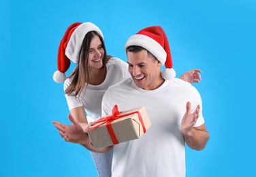
[[129,73],[135,84],[145,90],[155,90],[163,84],[161,63],[152,59],[146,50],[127,52]]

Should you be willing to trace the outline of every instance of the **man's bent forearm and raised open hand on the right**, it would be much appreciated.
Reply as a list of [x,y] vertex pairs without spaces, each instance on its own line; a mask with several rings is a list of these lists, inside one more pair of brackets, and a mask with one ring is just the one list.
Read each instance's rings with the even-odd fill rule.
[[195,150],[203,150],[210,138],[205,124],[199,127],[194,127],[197,122],[197,118],[199,117],[199,109],[200,106],[198,105],[195,111],[191,113],[191,103],[187,102],[187,111],[183,116],[181,123],[181,131],[187,145]]

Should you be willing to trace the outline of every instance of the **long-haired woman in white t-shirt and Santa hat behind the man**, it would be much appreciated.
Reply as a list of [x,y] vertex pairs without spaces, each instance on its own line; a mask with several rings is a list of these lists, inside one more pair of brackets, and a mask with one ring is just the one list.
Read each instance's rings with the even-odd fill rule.
[[[70,60],[78,64],[65,80]],[[86,125],[101,117],[101,100],[109,86],[131,77],[128,65],[106,54],[101,30],[91,22],[76,22],[66,31],[58,52],[58,69],[54,81],[64,82],[65,97],[72,116],[84,132]],[[201,80],[199,69],[180,78],[187,82]],[[111,176],[112,151],[90,152],[99,176]]]

